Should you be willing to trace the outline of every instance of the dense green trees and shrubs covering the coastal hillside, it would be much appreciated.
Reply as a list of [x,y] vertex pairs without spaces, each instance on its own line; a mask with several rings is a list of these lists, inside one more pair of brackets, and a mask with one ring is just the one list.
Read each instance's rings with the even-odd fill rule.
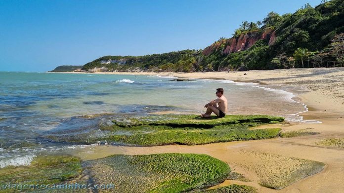
[[[249,49],[225,54],[224,50],[231,46],[232,41],[220,37],[207,55],[203,50],[182,50],[146,56],[104,56],[85,64],[83,70],[105,67],[107,71],[120,72],[205,72],[344,65],[343,0],[330,0],[315,8],[307,3],[293,14],[270,12],[262,21],[243,21],[233,33],[233,38],[235,42],[242,35],[247,39],[257,39],[262,33],[274,34],[273,43],[261,39]],[[114,62],[101,63],[108,60]]]

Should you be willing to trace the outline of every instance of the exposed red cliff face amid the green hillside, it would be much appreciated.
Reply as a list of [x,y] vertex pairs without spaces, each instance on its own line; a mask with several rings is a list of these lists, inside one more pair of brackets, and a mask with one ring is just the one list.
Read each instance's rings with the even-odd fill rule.
[[253,46],[259,39],[268,40],[269,45],[271,45],[275,41],[276,35],[271,29],[267,29],[262,33],[258,31],[243,33],[239,37],[223,39],[213,43],[203,50],[203,54],[206,56],[212,54],[214,51],[220,49],[222,44],[225,44],[224,49],[221,50],[222,54],[228,55],[233,52],[244,51]]

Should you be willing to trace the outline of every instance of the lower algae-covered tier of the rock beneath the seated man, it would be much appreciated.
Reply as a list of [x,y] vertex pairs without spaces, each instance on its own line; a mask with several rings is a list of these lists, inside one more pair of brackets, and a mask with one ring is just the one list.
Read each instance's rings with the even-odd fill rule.
[[[249,129],[248,125],[215,126],[211,129],[172,128],[168,126],[138,126],[126,128],[132,134],[113,134],[100,140],[140,146],[198,145],[228,141],[267,139],[276,137],[280,129]],[[114,131],[123,128],[113,127]],[[98,139],[99,140],[99,139]]]

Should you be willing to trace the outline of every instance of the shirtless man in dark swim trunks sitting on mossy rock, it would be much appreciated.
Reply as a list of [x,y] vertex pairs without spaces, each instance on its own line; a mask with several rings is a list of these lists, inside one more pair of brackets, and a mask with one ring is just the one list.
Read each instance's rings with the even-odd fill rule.
[[[204,108],[207,108],[205,114],[202,114],[201,117],[210,117],[210,115],[214,112],[219,118],[222,118],[226,115],[227,112],[227,98],[223,95],[223,89],[219,88],[216,89],[216,96],[217,99],[209,102],[208,104],[204,105]],[[218,103],[218,107],[217,104]]]

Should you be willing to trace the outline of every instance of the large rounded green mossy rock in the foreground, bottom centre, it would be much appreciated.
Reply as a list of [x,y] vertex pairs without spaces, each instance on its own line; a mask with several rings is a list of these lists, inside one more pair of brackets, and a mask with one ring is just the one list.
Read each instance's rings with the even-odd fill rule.
[[[204,154],[112,155],[86,161],[95,184],[115,184],[119,193],[179,193],[223,182],[228,164]],[[109,190],[109,192],[111,192]]]

